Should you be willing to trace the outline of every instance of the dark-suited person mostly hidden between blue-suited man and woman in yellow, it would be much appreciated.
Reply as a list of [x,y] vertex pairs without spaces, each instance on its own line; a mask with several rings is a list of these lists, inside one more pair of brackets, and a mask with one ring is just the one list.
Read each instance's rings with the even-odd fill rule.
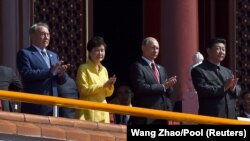
[[[79,93],[74,79],[68,77],[63,85],[58,85],[58,96],[63,98],[79,99]],[[76,118],[74,108],[59,108],[59,116],[65,118]]]

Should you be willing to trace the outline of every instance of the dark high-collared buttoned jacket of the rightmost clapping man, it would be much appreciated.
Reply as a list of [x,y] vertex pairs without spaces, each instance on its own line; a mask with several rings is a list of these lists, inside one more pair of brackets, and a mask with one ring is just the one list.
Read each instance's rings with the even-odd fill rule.
[[230,69],[216,66],[207,60],[192,69],[192,81],[199,99],[199,114],[236,118],[236,98],[241,88],[237,85],[234,92],[224,91],[224,83],[232,75]]

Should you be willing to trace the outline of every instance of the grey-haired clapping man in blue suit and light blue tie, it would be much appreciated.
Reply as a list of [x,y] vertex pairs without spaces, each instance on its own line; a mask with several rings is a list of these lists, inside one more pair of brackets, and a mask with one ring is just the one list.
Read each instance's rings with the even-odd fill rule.
[[[32,45],[17,53],[17,68],[23,82],[23,91],[33,94],[57,96],[57,84],[66,81],[68,65],[59,61],[56,53],[47,50],[50,41],[49,27],[45,23],[31,26]],[[52,106],[22,103],[21,112],[50,116]],[[54,113],[57,116],[57,112]]]

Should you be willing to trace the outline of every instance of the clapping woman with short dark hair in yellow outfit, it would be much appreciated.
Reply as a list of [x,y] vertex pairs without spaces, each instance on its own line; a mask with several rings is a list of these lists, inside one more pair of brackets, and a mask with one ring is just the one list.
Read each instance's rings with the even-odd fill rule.
[[[106,97],[113,94],[116,76],[108,77],[107,69],[101,64],[105,57],[106,43],[96,36],[87,43],[89,59],[77,71],[77,86],[81,100],[107,103]],[[84,109],[79,110],[81,120],[109,123],[109,112]]]

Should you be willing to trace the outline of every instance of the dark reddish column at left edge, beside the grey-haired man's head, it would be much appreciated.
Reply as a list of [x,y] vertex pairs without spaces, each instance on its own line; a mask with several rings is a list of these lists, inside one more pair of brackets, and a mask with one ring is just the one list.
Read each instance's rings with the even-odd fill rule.
[[30,1],[1,0],[0,63],[16,68],[16,53],[29,44]]

